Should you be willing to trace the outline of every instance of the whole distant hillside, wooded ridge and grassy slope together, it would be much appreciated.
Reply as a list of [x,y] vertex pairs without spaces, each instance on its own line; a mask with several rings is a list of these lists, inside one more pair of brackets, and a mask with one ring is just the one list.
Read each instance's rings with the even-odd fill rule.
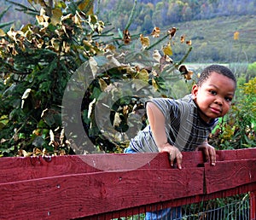
[[[27,4],[25,0],[15,1]],[[180,4],[177,5],[177,2]],[[172,26],[177,27],[177,41],[183,34],[187,39],[192,40],[193,49],[187,59],[189,62],[256,61],[254,2],[252,0],[237,0],[236,4],[232,0],[224,3],[220,0],[203,2],[201,0],[137,1],[129,31],[131,35],[143,33],[146,36],[152,32],[154,26],[159,26],[162,31],[169,30]],[[110,22],[110,27],[113,27],[113,31],[118,34],[118,28],[124,30],[129,20],[133,3],[134,1],[102,0],[95,9],[99,12],[98,16],[104,22]],[[8,5],[8,2],[4,2],[0,9],[6,9]],[[199,8],[200,11],[196,15],[195,12]],[[35,21],[15,9],[17,7],[12,6],[0,21],[3,23],[15,20],[16,29],[29,22],[28,20]],[[193,9],[190,15],[189,9]],[[239,39],[234,40],[234,32],[239,32]],[[178,45],[173,48],[176,60],[183,56],[184,48]]]

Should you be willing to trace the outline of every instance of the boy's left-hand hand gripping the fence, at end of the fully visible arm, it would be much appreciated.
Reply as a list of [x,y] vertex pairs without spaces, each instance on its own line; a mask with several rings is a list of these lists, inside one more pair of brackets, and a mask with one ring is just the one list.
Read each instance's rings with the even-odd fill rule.
[[170,155],[171,165],[173,166],[174,160],[176,159],[177,168],[182,169],[183,154],[178,150],[178,148],[166,143],[160,148],[160,152],[167,152]]

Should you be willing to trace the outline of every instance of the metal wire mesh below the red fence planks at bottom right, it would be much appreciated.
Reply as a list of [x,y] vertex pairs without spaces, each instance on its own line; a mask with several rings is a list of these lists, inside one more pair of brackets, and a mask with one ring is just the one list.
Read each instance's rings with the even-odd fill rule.
[[[158,207],[166,209],[166,206]],[[154,209],[155,207],[152,207]],[[139,208],[138,208],[139,209]],[[249,220],[250,219],[250,199],[249,194],[239,194],[232,197],[215,200],[201,201],[181,207],[182,217],[155,217],[152,220]],[[143,220],[146,212],[135,211],[140,214],[113,218],[114,220]],[[157,211],[156,211],[157,213]],[[160,213],[160,212],[159,212]],[[124,213],[122,213],[124,214]]]

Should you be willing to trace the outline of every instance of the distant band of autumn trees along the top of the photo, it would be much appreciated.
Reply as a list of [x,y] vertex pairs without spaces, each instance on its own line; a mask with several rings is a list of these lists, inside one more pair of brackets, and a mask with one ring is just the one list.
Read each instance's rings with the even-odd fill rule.
[[[102,0],[99,4],[102,20],[125,28],[134,1]],[[131,30],[150,32],[154,26],[205,20],[218,16],[256,14],[255,0],[137,0]]]

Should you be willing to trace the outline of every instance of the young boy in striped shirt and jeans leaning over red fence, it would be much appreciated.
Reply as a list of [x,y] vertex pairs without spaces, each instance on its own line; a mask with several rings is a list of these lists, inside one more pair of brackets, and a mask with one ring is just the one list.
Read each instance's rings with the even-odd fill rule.
[[[206,67],[192,88],[182,99],[154,98],[146,102],[148,126],[131,139],[125,153],[167,152],[171,165],[177,161],[182,169],[182,151],[202,150],[212,165],[216,163],[215,149],[207,137],[230,110],[235,95],[236,77],[221,65]],[[145,219],[172,219],[181,217],[180,207],[148,212]],[[178,212],[178,213],[177,213]]]

